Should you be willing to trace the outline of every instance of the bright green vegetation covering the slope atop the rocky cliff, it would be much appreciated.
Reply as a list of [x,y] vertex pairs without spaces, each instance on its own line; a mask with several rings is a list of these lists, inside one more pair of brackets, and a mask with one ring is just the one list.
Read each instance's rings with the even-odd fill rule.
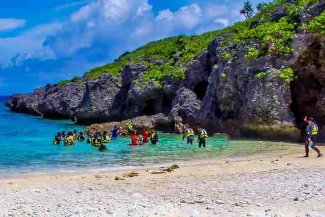
[[[290,42],[291,38],[297,34],[296,31],[301,9],[306,5],[315,4],[319,0],[298,0],[296,4],[283,7],[286,11],[284,17],[277,21],[272,21],[272,10],[287,2],[288,0],[277,0],[270,3],[258,4],[256,7],[257,13],[254,16],[249,13],[245,21],[237,22],[233,26],[226,27],[222,30],[208,32],[198,36],[180,35],[178,37],[150,42],[133,52],[123,54],[113,63],[86,72],[84,77],[64,80],[59,82],[58,85],[71,83],[82,85],[86,80],[94,80],[106,73],[118,77],[123,67],[127,64],[144,64],[148,66],[149,71],[145,73],[143,82],[153,79],[158,85],[161,85],[160,81],[165,76],[170,76],[173,79],[181,79],[185,76],[182,66],[188,64],[198,54],[207,49],[212,40],[218,35],[221,36],[221,34],[225,37],[225,40],[221,44],[224,47],[231,43],[245,43],[247,41],[254,41],[259,44],[260,48],[258,49],[247,47],[248,52],[245,55],[247,61],[254,60],[263,55],[282,57],[286,53],[293,51],[290,47]],[[325,12],[314,18],[306,28],[311,32],[325,34],[324,26]],[[233,50],[231,52],[223,51],[222,57],[237,60],[234,53]],[[283,71],[281,78],[289,81],[294,76],[291,72]]]

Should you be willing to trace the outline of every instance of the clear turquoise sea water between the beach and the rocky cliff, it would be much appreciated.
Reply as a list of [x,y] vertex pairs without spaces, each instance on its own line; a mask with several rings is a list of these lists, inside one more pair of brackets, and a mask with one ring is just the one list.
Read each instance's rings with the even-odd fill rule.
[[98,151],[86,142],[75,146],[52,145],[56,132],[83,131],[69,120],[49,120],[42,117],[17,114],[4,106],[0,98],[0,173],[17,171],[48,171],[113,168],[139,164],[202,160],[226,155],[230,157],[270,151],[284,151],[281,143],[249,140],[229,142],[224,135],[209,138],[206,149],[187,145],[180,135],[159,134],[159,145],[128,146],[129,138],[113,139],[106,152]]

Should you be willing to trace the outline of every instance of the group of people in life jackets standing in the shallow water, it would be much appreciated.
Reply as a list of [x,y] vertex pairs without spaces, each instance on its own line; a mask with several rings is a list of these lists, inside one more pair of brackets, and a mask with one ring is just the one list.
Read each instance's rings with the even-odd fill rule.
[[[121,128],[118,126],[114,126],[114,128],[111,130],[110,134],[108,134],[107,131],[104,131],[103,133],[96,132],[96,133],[90,133],[89,137],[87,138],[87,143],[91,144],[92,146],[99,147],[100,151],[106,150],[105,143],[109,143],[111,141],[111,138],[118,138],[119,133],[118,131]],[[149,142],[151,144],[158,145],[158,133],[152,128],[150,129],[150,132],[147,128],[143,128],[142,134],[138,135],[138,131],[135,130],[134,122],[127,122],[126,123],[126,129],[129,134],[131,134],[131,143],[129,145],[135,146],[135,145],[144,145]],[[198,131],[198,143],[199,148],[206,147],[206,138],[208,138],[207,131],[202,129],[201,126],[198,125],[197,127]],[[183,140],[187,139],[187,144],[193,144],[193,140],[195,137],[194,130],[190,127],[190,123],[186,123],[186,127],[183,131]],[[58,145],[61,142],[63,142],[64,145],[70,146],[74,145],[75,141],[84,141],[85,136],[83,132],[77,132],[77,130],[69,131],[68,134],[66,134],[66,131],[58,132],[54,138],[53,138],[53,144]]]

